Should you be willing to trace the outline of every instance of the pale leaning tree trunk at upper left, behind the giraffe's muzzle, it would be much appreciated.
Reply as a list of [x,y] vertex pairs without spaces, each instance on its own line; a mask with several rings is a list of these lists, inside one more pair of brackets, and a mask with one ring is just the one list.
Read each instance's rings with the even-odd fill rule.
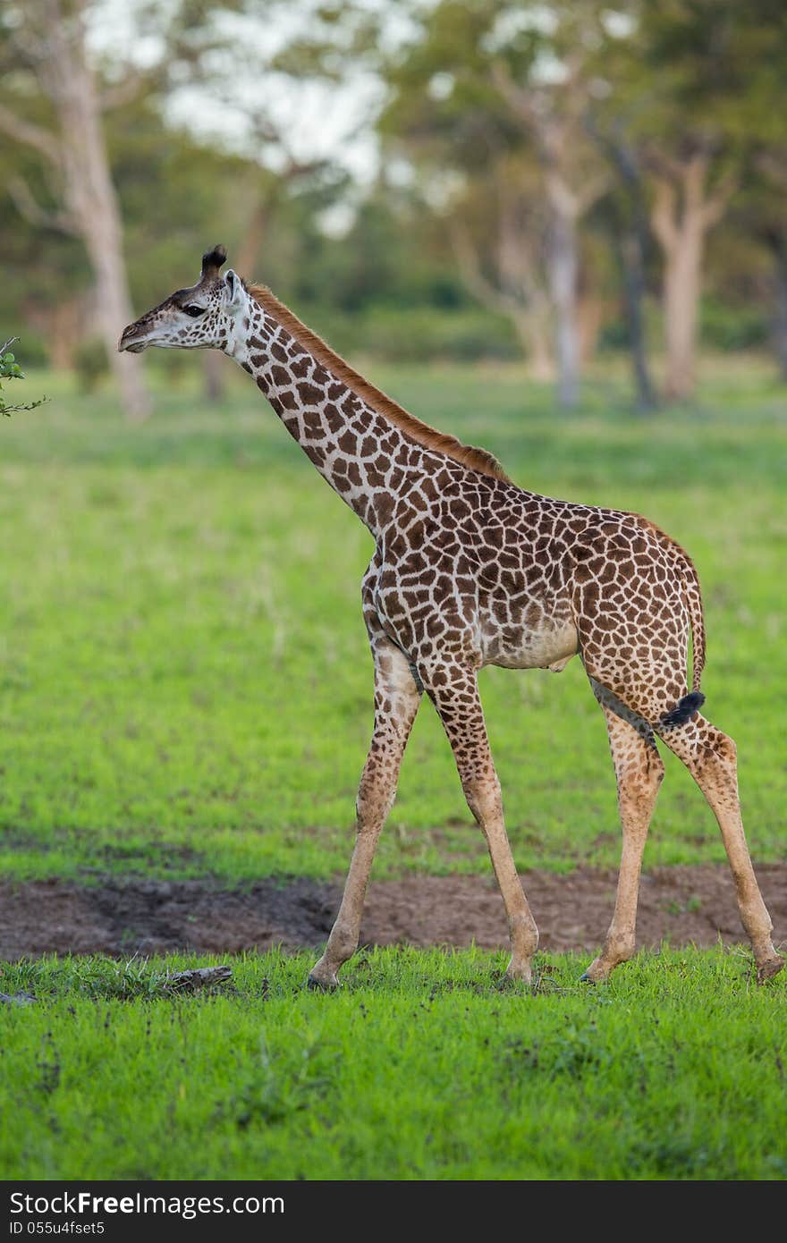
[[134,314],[123,262],[121,214],[101,129],[96,85],[86,60],[82,15],[77,12],[66,21],[60,0],[46,0],[42,16],[52,55],[37,67],[39,77],[55,104],[66,201],[96,277],[96,327],[127,415],[144,419],[150,403],[139,360],[117,351],[121,332]]

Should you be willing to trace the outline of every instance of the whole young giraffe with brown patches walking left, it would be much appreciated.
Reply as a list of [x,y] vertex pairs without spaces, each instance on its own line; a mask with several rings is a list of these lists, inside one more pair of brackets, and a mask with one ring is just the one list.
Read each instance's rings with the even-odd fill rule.
[[199,281],[129,324],[118,348],[224,351],[375,542],[362,582],[374,725],[344,894],[310,986],[334,988],[357,948],[375,844],[424,692],[486,839],[509,922],[506,976],[531,979],[538,931],[506,835],[477,672],[490,664],[559,671],[574,655],[605,718],[623,833],[612,922],[582,978],[604,981],[634,953],[643,850],[664,776],[656,740],[712,808],[757,978],[775,976],[785,963],[743,835],[735,743],[699,711],[705,628],[689,556],[637,513],[517,487],[491,454],[385,397],[269,288],[223,275],[225,260],[223,246],[208,251]]

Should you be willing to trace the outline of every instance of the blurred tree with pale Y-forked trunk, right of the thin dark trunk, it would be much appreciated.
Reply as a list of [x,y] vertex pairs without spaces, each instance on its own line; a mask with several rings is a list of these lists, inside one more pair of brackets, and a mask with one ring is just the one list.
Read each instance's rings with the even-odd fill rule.
[[695,383],[709,231],[741,184],[746,152],[783,116],[787,12],[773,0],[660,0],[625,6],[610,108],[632,116],[664,262],[665,389]]

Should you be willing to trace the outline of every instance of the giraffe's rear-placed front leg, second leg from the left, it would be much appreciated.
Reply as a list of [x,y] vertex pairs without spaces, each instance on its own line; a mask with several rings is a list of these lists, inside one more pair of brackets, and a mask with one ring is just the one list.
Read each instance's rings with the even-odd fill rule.
[[489,849],[502,895],[511,937],[509,979],[532,978],[532,956],[538,948],[538,929],[516,871],[502,815],[500,781],[486,735],[484,709],[475,670],[461,665],[419,674],[448,735],[467,807],[477,820]]

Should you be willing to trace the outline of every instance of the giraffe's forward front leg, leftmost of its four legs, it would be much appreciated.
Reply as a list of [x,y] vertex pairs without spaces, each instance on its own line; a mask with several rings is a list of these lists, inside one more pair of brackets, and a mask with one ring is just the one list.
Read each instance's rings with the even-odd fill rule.
[[336,988],[339,967],[358,946],[374,848],[397,793],[402,757],[420,702],[420,690],[403,653],[379,638],[373,640],[373,654],[374,732],[358,787],[356,846],[342,905],[326,952],[308,976],[310,988]]

